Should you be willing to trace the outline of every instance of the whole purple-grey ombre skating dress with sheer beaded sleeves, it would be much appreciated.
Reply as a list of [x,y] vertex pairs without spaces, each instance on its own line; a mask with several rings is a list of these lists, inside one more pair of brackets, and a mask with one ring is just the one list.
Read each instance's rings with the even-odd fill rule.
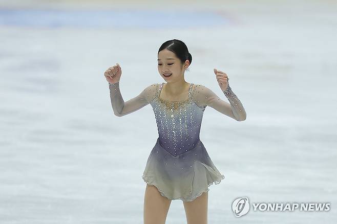
[[219,184],[224,178],[199,138],[206,106],[238,121],[245,116],[245,111],[229,84],[224,91],[229,103],[209,88],[193,83],[189,85],[186,100],[166,101],[160,98],[163,84],[152,84],[138,96],[124,102],[119,82],[109,83],[112,108],[114,114],[120,117],[151,104],[158,139],[150,152],[142,178],[168,199],[192,201],[209,191],[210,185]]

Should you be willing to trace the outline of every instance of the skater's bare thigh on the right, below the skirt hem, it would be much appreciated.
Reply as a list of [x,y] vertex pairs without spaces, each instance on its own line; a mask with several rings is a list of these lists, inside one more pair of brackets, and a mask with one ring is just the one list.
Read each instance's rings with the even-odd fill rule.
[[193,201],[183,201],[187,224],[207,224],[208,192]]

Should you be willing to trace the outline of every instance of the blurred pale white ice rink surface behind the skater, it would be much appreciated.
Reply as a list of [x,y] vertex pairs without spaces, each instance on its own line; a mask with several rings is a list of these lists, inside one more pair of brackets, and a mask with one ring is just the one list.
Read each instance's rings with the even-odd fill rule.
[[[0,222],[143,223],[142,172],[158,137],[152,107],[116,117],[103,73],[119,63],[125,101],[164,80],[157,53],[184,41],[185,80],[247,119],[211,107],[200,139],[225,179],[209,223],[337,218],[336,1],[0,1]],[[329,202],[328,212],[254,212],[231,203]],[[166,223],[186,223],[173,200]]]

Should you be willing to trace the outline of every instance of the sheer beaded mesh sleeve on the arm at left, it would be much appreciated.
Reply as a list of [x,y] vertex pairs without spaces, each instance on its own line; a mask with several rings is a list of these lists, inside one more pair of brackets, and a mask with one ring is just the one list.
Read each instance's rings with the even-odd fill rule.
[[158,86],[158,83],[149,85],[138,96],[124,102],[120,93],[119,82],[109,83],[110,100],[114,114],[117,117],[122,117],[148,105],[155,98]]

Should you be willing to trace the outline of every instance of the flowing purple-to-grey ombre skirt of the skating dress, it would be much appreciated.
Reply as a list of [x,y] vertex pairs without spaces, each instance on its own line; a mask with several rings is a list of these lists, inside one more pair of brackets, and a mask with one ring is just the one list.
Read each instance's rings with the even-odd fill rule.
[[192,201],[225,177],[215,167],[199,139],[194,148],[174,156],[160,145],[158,138],[142,178],[168,199]]

